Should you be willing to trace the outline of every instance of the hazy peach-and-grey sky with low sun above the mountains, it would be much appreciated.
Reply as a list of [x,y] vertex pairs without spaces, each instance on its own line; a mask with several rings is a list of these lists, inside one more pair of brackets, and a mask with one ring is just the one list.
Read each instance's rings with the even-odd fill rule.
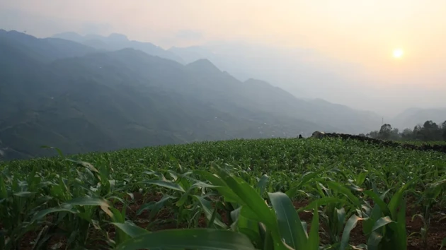
[[415,102],[446,106],[445,13],[445,0],[1,0],[0,28],[119,32],[164,48],[214,40],[308,48],[360,66],[377,88],[410,89],[403,99],[423,90],[433,96]]

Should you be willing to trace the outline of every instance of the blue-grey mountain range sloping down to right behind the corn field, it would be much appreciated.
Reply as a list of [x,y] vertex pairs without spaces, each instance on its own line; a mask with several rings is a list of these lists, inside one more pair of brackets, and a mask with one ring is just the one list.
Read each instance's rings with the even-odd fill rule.
[[[56,38],[59,37],[59,38]],[[122,35],[36,38],[0,30],[0,157],[231,138],[366,133],[381,117],[240,81],[208,59]],[[422,122],[422,121],[421,121]]]

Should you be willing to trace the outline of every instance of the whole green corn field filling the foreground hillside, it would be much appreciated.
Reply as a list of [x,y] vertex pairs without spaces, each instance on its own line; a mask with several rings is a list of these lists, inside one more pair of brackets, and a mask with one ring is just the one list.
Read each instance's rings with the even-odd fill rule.
[[342,138],[3,162],[0,249],[440,249],[445,169]]

